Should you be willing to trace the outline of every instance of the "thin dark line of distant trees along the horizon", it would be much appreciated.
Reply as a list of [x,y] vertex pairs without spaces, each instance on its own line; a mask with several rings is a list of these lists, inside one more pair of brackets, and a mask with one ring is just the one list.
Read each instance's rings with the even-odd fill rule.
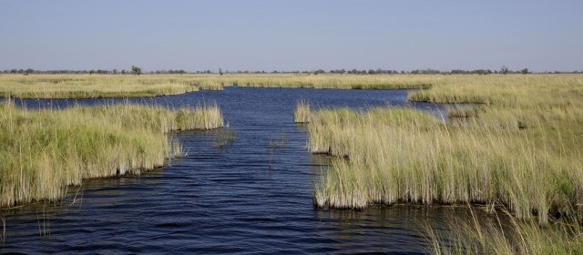
[[[91,69],[91,70],[34,70],[32,68],[27,69],[9,69],[9,70],[1,70],[0,74],[88,74],[88,75],[141,75],[143,73],[142,68],[138,66],[131,66],[128,70],[122,69]],[[249,70],[237,70],[237,71],[223,71],[219,68],[218,72],[208,70],[200,70],[200,71],[185,71],[184,69],[168,69],[168,70],[156,70],[156,71],[149,71],[148,74],[170,74],[170,75],[183,75],[183,74],[312,74],[312,75],[320,75],[320,74],[349,74],[349,75],[490,75],[490,74],[532,74],[528,68],[520,69],[520,70],[510,70],[506,66],[502,66],[499,70],[491,70],[491,69],[476,69],[476,70],[463,70],[463,69],[453,69],[449,71],[442,71],[436,69],[414,69],[414,70],[391,70],[391,69],[332,69],[329,71],[325,71],[323,69],[317,70],[304,70],[304,71],[278,71],[273,70],[270,72],[266,72],[264,70],[261,71],[249,71]],[[537,72],[537,74],[583,74],[582,71],[544,71],[544,72]]]

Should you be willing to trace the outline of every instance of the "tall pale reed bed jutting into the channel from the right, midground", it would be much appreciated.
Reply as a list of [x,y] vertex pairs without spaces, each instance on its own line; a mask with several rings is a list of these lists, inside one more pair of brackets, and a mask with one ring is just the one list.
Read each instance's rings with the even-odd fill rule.
[[546,223],[583,203],[581,138],[568,133],[455,127],[397,108],[322,110],[312,119],[312,152],[349,158],[323,172],[314,195],[320,207],[503,203],[518,219]]

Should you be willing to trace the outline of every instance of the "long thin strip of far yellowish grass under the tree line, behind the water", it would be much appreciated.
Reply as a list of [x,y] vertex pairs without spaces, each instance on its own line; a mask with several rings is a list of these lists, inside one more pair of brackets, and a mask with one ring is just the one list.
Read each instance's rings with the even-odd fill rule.
[[415,89],[431,87],[426,76],[358,75],[3,75],[0,97],[99,98],[159,97],[223,86],[340,89]]

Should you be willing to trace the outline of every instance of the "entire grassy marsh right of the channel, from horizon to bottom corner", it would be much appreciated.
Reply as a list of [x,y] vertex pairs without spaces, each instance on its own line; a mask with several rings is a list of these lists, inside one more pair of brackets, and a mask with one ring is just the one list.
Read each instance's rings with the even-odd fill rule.
[[[391,107],[313,113],[308,147],[340,157],[316,182],[315,204],[481,204],[489,211],[508,209],[517,220],[516,234],[532,238],[522,247],[506,245],[510,253],[541,251],[533,245],[556,240],[565,246],[547,248],[579,247],[573,241],[580,237],[583,219],[583,76],[446,79],[450,83],[436,81],[409,99],[477,104],[451,107],[447,123],[418,110]],[[525,223],[532,220],[537,224]],[[565,220],[568,229],[544,227]],[[502,231],[484,224],[476,221],[474,229],[460,229],[456,238]],[[504,235],[496,238],[500,240],[472,240],[463,246],[487,253],[502,249],[498,242],[511,243]]]

